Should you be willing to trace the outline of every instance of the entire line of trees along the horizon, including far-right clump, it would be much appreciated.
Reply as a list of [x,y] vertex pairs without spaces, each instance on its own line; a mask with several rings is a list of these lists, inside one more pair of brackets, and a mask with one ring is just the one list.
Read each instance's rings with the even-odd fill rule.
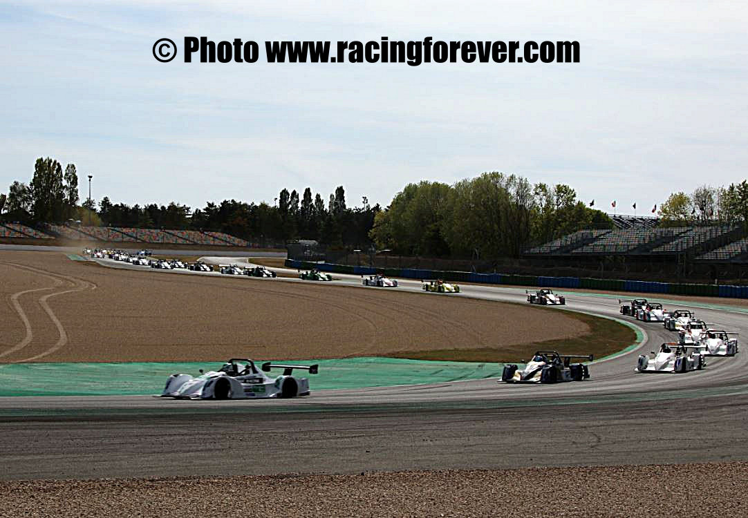
[[[325,200],[307,187],[283,188],[270,205],[237,200],[208,202],[200,209],[177,202],[129,206],[103,197],[80,203],[75,164],[62,167],[38,158],[27,184],[13,182],[0,195],[7,221],[218,230],[254,243],[309,239],[334,247],[391,250],[438,257],[518,256],[522,250],[579,229],[609,229],[604,212],[577,200],[569,185],[531,184],[522,176],[483,173],[453,185],[423,181],[405,185],[386,209],[348,206],[343,186]],[[748,222],[748,183],[691,194],[670,194],[659,210],[660,225]]]

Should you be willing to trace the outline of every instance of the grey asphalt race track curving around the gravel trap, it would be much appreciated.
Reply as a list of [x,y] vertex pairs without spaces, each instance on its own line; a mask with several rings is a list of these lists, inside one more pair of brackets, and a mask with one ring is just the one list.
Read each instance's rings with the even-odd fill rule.
[[[226,258],[212,259],[216,263]],[[233,260],[233,259],[232,259]],[[115,268],[153,271],[108,260]],[[211,275],[211,274],[206,274]],[[220,275],[213,273],[212,275]],[[356,289],[355,276],[334,284]],[[238,277],[236,282],[245,282]],[[264,282],[312,282],[266,279]],[[525,303],[524,289],[463,285],[459,295]],[[654,298],[654,297],[653,297]],[[677,340],[662,324],[619,315],[616,297],[568,293],[565,308],[630,321],[637,348],[592,363],[590,379],[556,385],[474,380],[314,392],[307,398],[174,401],[138,396],[1,398],[0,478],[122,478],[503,469],[748,460],[748,354],[702,371],[635,373],[641,352]],[[674,303],[748,333],[746,309]],[[585,351],[560,351],[583,354]],[[519,359],[518,359],[519,360]],[[257,461],[257,462],[255,462]]]

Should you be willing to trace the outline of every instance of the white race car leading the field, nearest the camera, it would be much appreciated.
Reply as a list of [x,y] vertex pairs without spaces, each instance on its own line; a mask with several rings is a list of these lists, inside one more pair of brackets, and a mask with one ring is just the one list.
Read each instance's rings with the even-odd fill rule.
[[[265,372],[283,369],[283,374],[269,377]],[[200,376],[172,374],[166,381],[162,398],[179,399],[259,399],[295,398],[309,395],[309,380],[295,377],[293,369],[304,369],[316,374],[318,366],[273,365],[263,363],[258,370],[252,360],[232,358],[218,371],[204,372]]]

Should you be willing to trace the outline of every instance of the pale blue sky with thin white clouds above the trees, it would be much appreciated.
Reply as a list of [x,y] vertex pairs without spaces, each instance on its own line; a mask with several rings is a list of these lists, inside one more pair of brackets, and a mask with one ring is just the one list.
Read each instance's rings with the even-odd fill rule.
[[[337,185],[387,206],[485,171],[612,212],[748,177],[748,5],[0,0],[0,192],[73,162],[95,200],[193,208]],[[578,64],[200,64],[211,40],[576,40]],[[169,37],[180,54],[153,58]]]

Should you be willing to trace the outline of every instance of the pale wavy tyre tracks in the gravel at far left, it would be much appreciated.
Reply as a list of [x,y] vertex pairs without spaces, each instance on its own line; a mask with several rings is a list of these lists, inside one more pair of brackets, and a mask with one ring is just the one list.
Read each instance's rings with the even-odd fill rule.
[[63,274],[53,274],[50,271],[40,270],[39,268],[33,268],[28,265],[19,265],[15,262],[0,261],[0,265],[5,265],[10,268],[16,268],[19,270],[29,271],[33,274],[37,274],[41,277],[45,277],[46,279],[52,280],[52,283],[53,283],[52,286],[48,286],[46,288],[26,289],[21,292],[16,292],[13,295],[10,295],[10,303],[13,306],[13,309],[15,310],[16,314],[19,316],[20,320],[22,321],[23,326],[25,327],[26,333],[23,339],[20,342],[18,342],[16,345],[11,346],[6,351],[0,352],[0,358],[10,356],[10,354],[16,354],[19,351],[24,351],[24,349],[27,348],[28,345],[30,345],[31,342],[33,342],[34,340],[34,327],[31,325],[31,321],[29,321],[28,315],[26,315],[26,312],[24,311],[19,301],[19,298],[22,297],[22,295],[26,295],[32,292],[46,292],[52,289],[59,289],[60,287],[67,288],[62,291],[56,291],[54,293],[48,293],[46,295],[42,295],[41,297],[37,299],[37,303],[39,303],[39,305],[42,307],[46,315],[49,317],[49,320],[52,321],[52,324],[54,324],[55,327],[57,328],[59,337],[58,337],[57,342],[55,342],[54,345],[52,345],[49,348],[46,348],[44,351],[41,351],[37,354],[33,354],[32,356],[29,356],[29,357],[22,358],[20,360],[12,360],[12,363],[25,363],[25,362],[31,362],[34,360],[39,360],[40,358],[46,357],[49,354],[52,354],[55,351],[58,351],[59,349],[67,345],[67,342],[68,342],[67,331],[62,325],[62,322],[60,321],[60,319],[57,318],[57,315],[55,315],[55,312],[49,306],[49,303],[47,302],[47,300],[49,300],[51,297],[57,297],[58,295],[82,292],[86,289],[94,289],[96,285],[87,280],[81,280],[81,279],[77,279],[76,277],[70,277],[68,275],[63,275]]

